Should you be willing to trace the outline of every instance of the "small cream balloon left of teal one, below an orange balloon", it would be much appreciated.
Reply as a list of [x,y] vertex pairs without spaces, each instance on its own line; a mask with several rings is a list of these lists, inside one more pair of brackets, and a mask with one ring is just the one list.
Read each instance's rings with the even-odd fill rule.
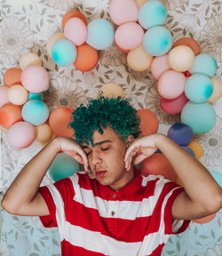
[[8,91],[8,99],[14,105],[23,105],[28,100],[28,91],[20,84],[15,84]]

